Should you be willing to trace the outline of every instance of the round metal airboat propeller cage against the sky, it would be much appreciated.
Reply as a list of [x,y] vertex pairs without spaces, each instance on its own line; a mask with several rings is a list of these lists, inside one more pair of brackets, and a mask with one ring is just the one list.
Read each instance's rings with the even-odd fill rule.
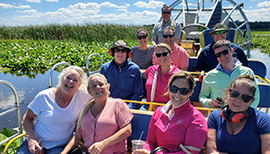
[[[251,31],[246,14],[242,11],[244,4],[232,0],[176,0],[171,7],[173,20],[183,23],[185,39],[200,39],[202,29],[212,29],[216,23],[224,23],[228,29],[235,29],[241,46],[247,50],[251,44]],[[162,17],[159,21],[162,20]],[[247,30],[246,36],[244,30]],[[237,42],[241,45],[241,42]]]

